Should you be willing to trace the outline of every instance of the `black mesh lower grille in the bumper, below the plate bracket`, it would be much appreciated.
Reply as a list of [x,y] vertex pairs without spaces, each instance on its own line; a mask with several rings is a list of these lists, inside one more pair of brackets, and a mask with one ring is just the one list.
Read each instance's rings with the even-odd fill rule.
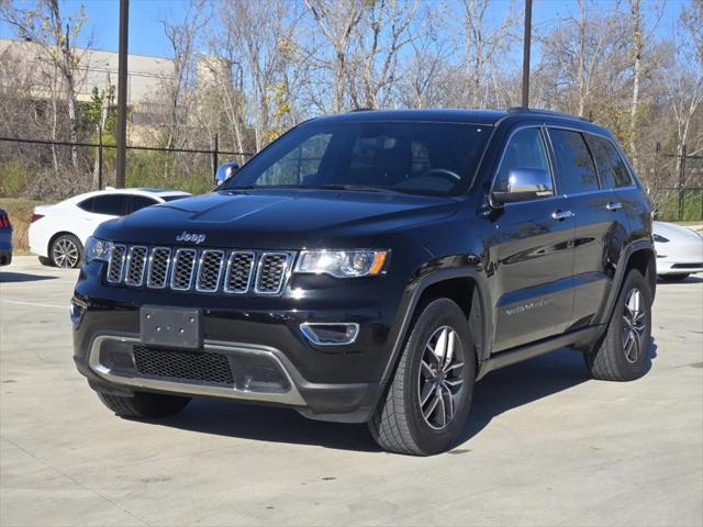
[[134,363],[146,377],[234,388],[232,368],[223,354],[134,346]]

